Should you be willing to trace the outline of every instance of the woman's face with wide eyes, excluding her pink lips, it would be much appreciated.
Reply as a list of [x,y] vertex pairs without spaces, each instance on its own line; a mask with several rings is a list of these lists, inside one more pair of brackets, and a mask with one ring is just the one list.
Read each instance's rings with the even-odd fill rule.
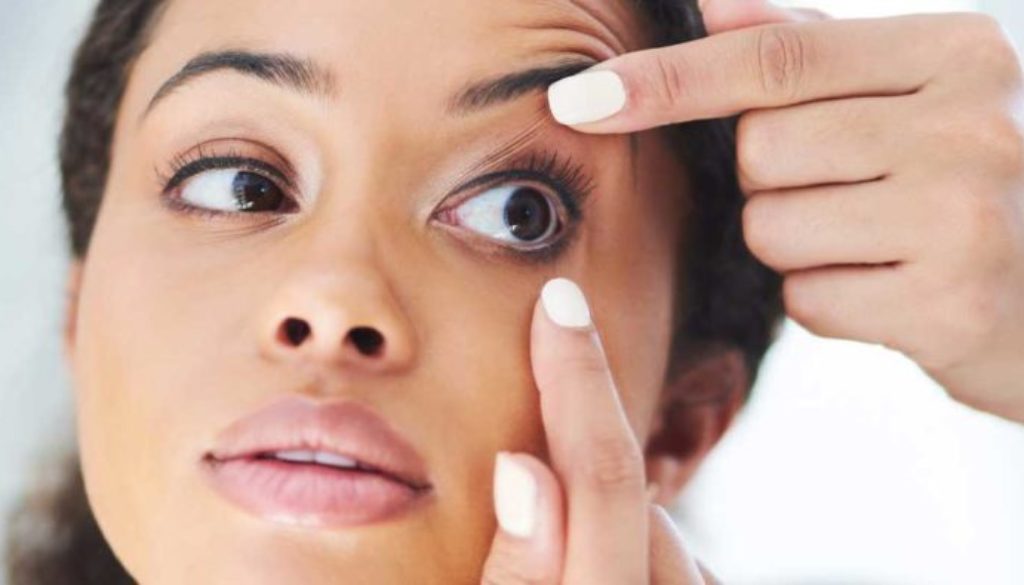
[[[642,47],[626,5],[170,3],[119,111],[72,353],[90,502],[138,580],[473,582],[495,454],[544,457],[528,331],[556,276],[588,293],[643,443],[683,213],[672,153],[659,134],[557,125],[542,84],[453,100]],[[217,51],[304,68],[215,59],[151,103]],[[375,411],[422,457],[429,495],[345,528],[223,497],[206,456],[286,396]]]

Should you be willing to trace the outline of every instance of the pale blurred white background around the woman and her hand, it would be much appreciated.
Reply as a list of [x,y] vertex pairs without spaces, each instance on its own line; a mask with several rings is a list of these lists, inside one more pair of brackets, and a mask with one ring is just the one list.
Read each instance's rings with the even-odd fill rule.
[[[1024,41],[1019,0],[799,4],[837,16],[982,10]],[[39,455],[74,436],[54,145],[92,5],[0,0],[0,516],[45,472]],[[786,323],[675,513],[731,585],[1022,584],[1024,427],[953,404],[899,354]]]

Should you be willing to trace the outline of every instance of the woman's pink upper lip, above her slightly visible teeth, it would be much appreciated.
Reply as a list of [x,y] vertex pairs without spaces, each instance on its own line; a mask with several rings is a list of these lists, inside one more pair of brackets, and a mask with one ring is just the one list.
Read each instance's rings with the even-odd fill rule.
[[227,426],[205,459],[217,463],[291,450],[342,455],[411,488],[430,488],[426,465],[412,444],[354,402],[279,400]]

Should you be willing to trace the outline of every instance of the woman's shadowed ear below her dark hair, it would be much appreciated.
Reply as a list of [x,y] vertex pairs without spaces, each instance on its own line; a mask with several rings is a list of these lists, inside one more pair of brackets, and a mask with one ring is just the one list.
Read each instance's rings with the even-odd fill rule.
[[666,382],[646,447],[652,499],[671,504],[732,424],[750,385],[741,351],[710,349]]

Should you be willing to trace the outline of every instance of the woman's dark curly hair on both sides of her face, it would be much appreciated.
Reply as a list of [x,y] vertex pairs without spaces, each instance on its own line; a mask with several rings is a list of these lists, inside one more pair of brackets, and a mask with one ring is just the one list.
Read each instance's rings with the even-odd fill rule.
[[[632,0],[651,27],[651,46],[707,36],[695,0]],[[84,259],[102,202],[115,120],[138,55],[167,0],[99,0],[78,47],[66,87],[59,159],[71,253]],[[708,347],[733,347],[753,385],[782,316],[781,279],[743,243],[735,162],[736,119],[664,129],[690,172],[693,213],[680,250],[672,368]],[[89,508],[79,459],[70,451],[63,476],[27,496],[12,516],[7,545],[11,585],[133,583],[103,539]]]

